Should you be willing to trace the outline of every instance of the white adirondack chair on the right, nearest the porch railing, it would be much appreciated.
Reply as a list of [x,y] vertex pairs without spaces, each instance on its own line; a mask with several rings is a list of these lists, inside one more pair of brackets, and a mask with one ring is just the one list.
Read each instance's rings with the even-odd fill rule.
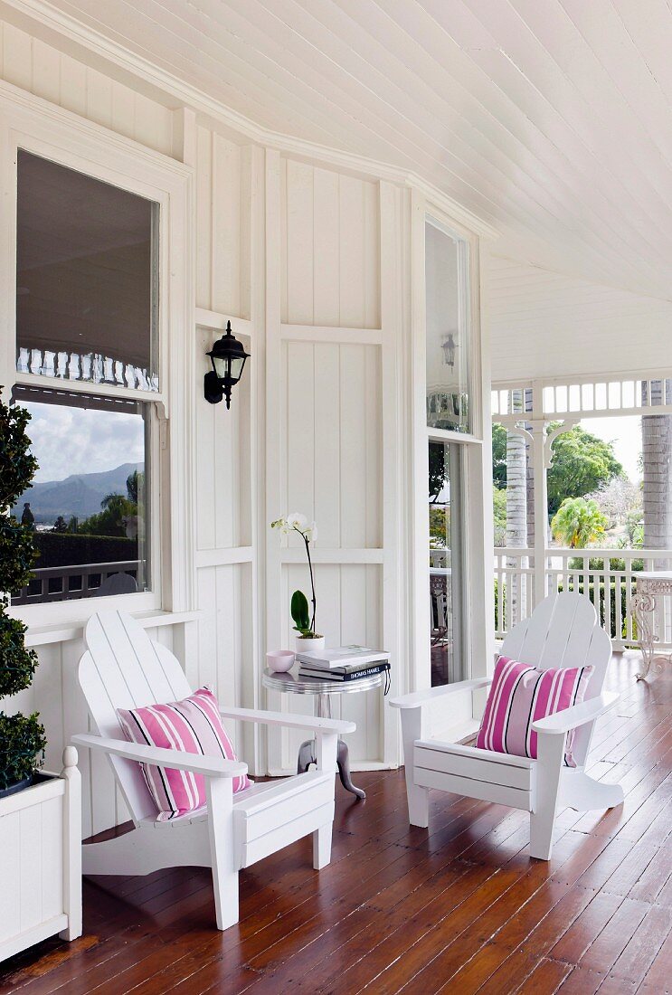
[[[546,598],[529,619],[512,629],[502,656],[543,670],[588,664],[595,670],[582,703],[534,723],[537,760],[427,738],[429,702],[487,688],[492,678],[461,681],[390,701],[401,709],[408,817],[413,826],[428,825],[428,788],[524,809],[530,812],[531,856],[550,860],[560,806],[583,812],[623,801],[620,785],[602,784],[584,770],[595,719],[618,700],[618,695],[602,691],[611,641],[599,627],[588,598],[562,593]],[[575,768],[562,763],[570,729],[577,730],[572,749]]]

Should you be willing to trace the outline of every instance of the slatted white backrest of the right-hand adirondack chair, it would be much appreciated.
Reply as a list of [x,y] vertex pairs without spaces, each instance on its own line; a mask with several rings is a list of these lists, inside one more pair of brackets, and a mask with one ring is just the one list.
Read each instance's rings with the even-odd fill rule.
[[[611,659],[611,640],[600,628],[589,598],[570,591],[549,595],[507,635],[502,656],[541,670],[550,668],[594,668],[585,699],[602,692]],[[594,722],[576,730],[573,754],[580,766],[590,744]]]

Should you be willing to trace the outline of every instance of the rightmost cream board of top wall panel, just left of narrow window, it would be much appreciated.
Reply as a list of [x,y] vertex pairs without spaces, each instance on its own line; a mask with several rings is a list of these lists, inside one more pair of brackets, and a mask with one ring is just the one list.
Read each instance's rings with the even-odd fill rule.
[[340,324],[361,327],[364,323],[364,184],[352,176],[338,182],[340,231],[339,282]]

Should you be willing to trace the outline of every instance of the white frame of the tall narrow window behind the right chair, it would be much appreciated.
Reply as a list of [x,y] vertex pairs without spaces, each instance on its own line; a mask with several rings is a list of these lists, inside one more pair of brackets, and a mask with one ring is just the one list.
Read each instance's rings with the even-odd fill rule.
[[[468,389],[471,419],[469,434],[432,428],[426,416],[426,271],[425,225],[429,222],[464,244],[467,285],[462,287],[461,307],[465,316],[470,347]],[[490,633],[493,592],[489,589],[492,551],[490,480],[491,424],[485,401],[489,399],[489,352],[487,333],[481,324],[481,241],[477,235],[455,222],[446,210],[413,189],[411,193],[411,417],[412,445],[412,591],[410,690],[431,687],[430,614],[427,596],[429,505],[427,501],[428,444],[454,443],[461,447],[461,498],[463,533],[463,624],[464,668],[467,677],[488,672],[494,650]],[[487,417],[486,417],[487,414]],[[494,610],[494,609],[493,609]],[[459,700],[458,700],[459,698]],[[471,696],[458,696],[450,719],[434,714],[432,725],[448,733],[449,727],[472,721]],[[446,724],[447,722],[447,724]],[[443,728],[445,726],[445,728]]]

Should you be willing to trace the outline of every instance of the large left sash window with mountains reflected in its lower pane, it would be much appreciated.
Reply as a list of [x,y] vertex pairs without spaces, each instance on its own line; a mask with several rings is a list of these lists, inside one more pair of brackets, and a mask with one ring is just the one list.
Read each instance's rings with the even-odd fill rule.
[[39,470],[39,604],[150,589],[158,205],[19,150],[17,385]]

